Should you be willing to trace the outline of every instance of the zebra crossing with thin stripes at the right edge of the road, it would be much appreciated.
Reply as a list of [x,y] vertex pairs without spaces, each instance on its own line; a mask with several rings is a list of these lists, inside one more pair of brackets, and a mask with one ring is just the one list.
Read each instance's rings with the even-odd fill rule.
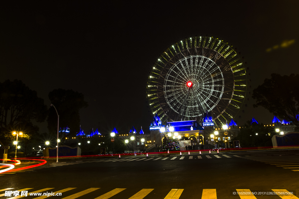
[[245,156],[242,158],[277,166],[283,169],[291,169],[292,171],[299,171],[299,156],[263,156],[263,157]]

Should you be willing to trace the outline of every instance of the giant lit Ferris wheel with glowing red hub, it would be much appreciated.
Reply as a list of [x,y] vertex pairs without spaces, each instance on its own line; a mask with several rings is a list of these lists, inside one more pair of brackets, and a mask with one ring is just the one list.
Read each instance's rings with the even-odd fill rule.
[[248,68],[237,48],[213,36],[173,43],[154,63],[147,81],[152,114],[162,121],[201,121],[206,111],[218,124],[234,118],[245,99]]

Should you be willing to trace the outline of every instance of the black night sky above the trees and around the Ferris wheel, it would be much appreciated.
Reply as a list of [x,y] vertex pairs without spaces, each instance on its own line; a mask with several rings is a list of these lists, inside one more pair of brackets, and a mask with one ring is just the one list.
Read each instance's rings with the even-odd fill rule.
[[[152,116],[145,91],[152,63],[186,36],[212,34],[237,47],[250,68],[252,89],[271,73],[299,73],[299,1],[221,2],[2,4],[0,81],[22,80],[48,107],[53,89],[81,92],[89,103],[80,111],[85,132],[115,126],[125,133],[132,125],[148,129]],[[252,117],[270,123],[273,115],[252,108],[249,98],[238,124]],[[48,131],[46,122],[39,127]]]

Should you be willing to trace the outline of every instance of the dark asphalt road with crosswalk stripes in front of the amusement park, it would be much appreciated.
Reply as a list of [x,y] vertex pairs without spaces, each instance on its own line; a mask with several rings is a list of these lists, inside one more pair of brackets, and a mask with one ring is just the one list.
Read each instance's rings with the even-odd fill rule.
[[[236,189],[271,193],[273,193],[271,189],[286,189],[296,191],[294,194],[299,197],[299,155],[293,153],[284,153],[282,156],[275,153],[259,156],[245,153],[220,153],[218,157],[215,155],[217,154],[191,153],[183,156],[170,155],[167,159],[161,155],[151,155],[148,158],[131,156],[121,160],[106,158],[59,164],[47,163],[25,171],[2,173],[0,190],[31,188],[28,189],[29,193],[59,192],[66,189],[61,196],[55,198],[68,199],[130,197],[197,199],[215,198],[215,196],[237,199],[240,196],[231,193],[236,192]],[[181,159],[182,157],[184,158]],[[41,189],[46,190],[39,191]],[[4,194],[4,191],[0,192],[0,196],[1,194]],[[278,195],[265,194],[255,194],[253,197],[280,198]],[[1,196],[1,198],[10,197]]]

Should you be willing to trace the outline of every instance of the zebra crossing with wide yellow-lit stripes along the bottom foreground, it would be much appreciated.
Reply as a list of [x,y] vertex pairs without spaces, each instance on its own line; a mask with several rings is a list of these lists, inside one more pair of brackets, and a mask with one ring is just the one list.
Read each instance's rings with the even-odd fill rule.
[[[44,188],[40,190],[33,191],[34,188],[24,188],[24,189],[18,189],[15,190],[14,188],[5,188],[0,189],[0,197],[6,196],[10,197],[8,199],[17,199],[22,198],[25,195],[21,195],[20,192],[27,193],[26,196],[37,196],[34,197],[34,199],[44,199],[51,196],[56,196],[56,194],[63,197],[62,199],[75,199],[75,198],[89,198],[89,199],[108,199],[108,198],[128,198],[128,192],[129,196],[131,196],[129,199],[143,199],[147,196],[147,198],[164,198],[164,199],[179,199],[184,192],[184,189],[141,189],[140,191],[134,191],[130,188],[115,188],[113,190],[108,189],[101,192],[103,189],[100,188],[89,188],[82,190],[82,188],[66,188],[58,190],[57,188]],[[123,191],[126,190],[126,193]],[[254,192],[251,192],[250,189],[235,189],[235,193],[237,192],[236,196],[240,199],[256,199]],[[33,191],[33,192],[31,192]],[[157,191],[157,192],[156,192]],[[1,194],[1,192],[4,192]],[[51,192],[51,193],[50,193]],[[186,192],[186,191],[185,191]],[[252,194],[248,194],[248,193]],[[278,199],[299,199],[295,195],[293,195],[292,192],[289,192],[286,189],[271,189],[267,190],[268,193],[271,192],[271,198]],[[52,194],[53,193],[53,194]],[[93,196],[91,196],[91,194]],[[255,195],[254,195],[255,194]],[[283,195],[284,194],[284,195]],[[96,196],[94,196],[96,195]],[[98,197],[97,197],[98,195]],[[60,198],[61,198],[60,197]],[[95,198],[96,197],[96,198]],[[187,198],[190,197],[196,197],[196,198],[202,198],[202,199],[217,199],[217,191],[216,189],[202,189],[197,190],[196,192],[188,192]],[[223,194],[219,195],[218,198],[224,197]],[[182,196],[181,199],[186,198],[185,196]]]

